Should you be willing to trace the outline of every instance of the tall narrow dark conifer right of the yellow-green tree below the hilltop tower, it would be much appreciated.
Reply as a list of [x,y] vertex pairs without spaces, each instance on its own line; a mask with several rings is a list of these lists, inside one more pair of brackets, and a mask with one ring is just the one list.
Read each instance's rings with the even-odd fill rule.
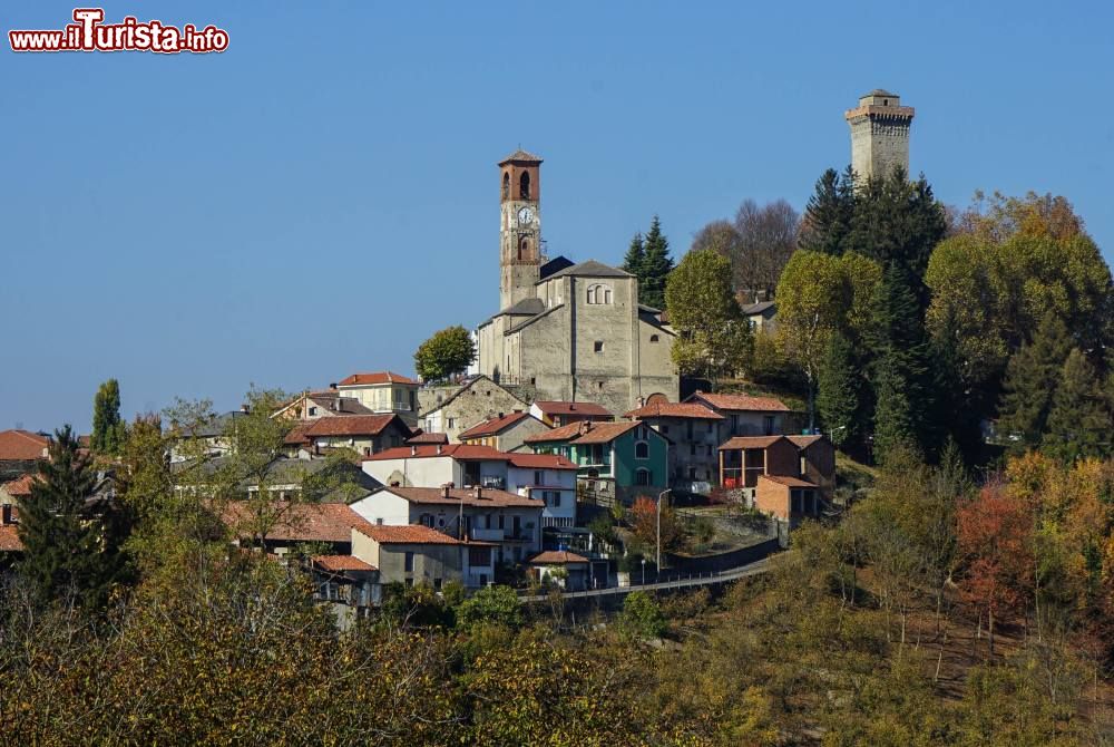
[[936,429],[928,340],[917,299],[898,265],[889,265],[876,288],[872,317],[876,452],[882,456],[905,443],[930,455]]

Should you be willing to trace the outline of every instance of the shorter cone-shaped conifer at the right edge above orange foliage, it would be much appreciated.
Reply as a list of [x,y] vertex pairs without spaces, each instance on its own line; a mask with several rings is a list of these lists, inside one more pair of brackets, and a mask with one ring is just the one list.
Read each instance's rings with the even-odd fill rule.
[[1087,357],[1073,348],[1052,396],[1044,449],[1064,462],[1110,453],[1111,414],[1103,406],[1098,380]]

